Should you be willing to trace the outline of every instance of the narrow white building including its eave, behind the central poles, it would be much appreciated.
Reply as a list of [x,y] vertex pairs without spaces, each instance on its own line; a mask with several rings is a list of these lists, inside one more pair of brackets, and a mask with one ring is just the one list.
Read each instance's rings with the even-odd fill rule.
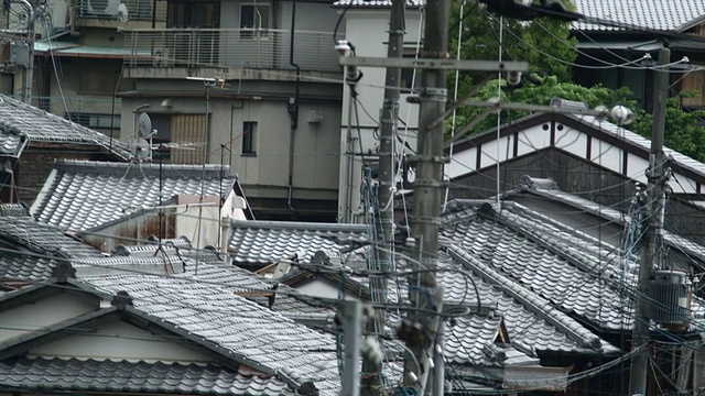
[[[404,56],[416,56],[421,43],[421,6],[423,1],[408,0],[405,11]],[[357,56],[387,56],[391,0],[359,2],[340,0],[336,7],[345,11],[345,37],[355,46]],[[340,121],[340,188],[338,218],[343,222],[365,221],[360,200],[360,183],[366,166],[376,167],[379,150],[379,110],[384,97],[384,68],[362,67],[362,79],[355,88],[357,103],[351,100],[350,88],[345,87]],[[419,107],[406,102],[420,73],[402,70],[402,92],[399,107],[400,122],[397,133],[397,153],[400,158],[416,148]],[[367,155],[360,155],[365,153]],[[401,175],[400,175],[401,176]],[[399,177],[401,178],[401,177]]]

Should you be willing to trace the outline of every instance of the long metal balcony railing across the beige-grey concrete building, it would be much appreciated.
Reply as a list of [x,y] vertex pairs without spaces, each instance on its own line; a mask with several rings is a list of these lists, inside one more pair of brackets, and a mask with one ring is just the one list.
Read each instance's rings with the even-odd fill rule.
[[[126,30],[129,67],[294,69],[291,32],[247,29]],[[294,63],[304,72],[339,72],[333,33],[294,32]]]

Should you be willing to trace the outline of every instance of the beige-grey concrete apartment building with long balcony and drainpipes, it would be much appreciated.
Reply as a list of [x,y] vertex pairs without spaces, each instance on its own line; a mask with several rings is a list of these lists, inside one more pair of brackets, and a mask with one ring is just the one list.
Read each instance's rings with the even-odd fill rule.
[[[319,1],[166,3],[166,28],[123,30],[123,78],[134,87],[120,92],[122,120],[148,112],[154,139],[191,146],[187,158],[177,147],[164,153],[170,162],[229,165],[258,219],[334,221],[336,10]],[[122,122],[121,139],[133,124]]]

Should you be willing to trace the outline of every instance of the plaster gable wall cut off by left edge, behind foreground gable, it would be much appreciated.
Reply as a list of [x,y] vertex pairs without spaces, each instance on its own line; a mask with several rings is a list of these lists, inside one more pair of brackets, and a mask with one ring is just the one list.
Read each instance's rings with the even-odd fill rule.
[[98,307],[66,293],[0,312],[0,342],[78,317]]

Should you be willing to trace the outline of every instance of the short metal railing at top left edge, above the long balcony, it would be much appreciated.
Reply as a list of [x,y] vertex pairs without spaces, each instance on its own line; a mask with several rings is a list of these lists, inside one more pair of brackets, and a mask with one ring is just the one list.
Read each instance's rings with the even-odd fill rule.
[[[152,21],[153,0],[74,0],[78,18],[118,20],[118,7],[123,3],[130,21]],[[166,1],[156,1],[154,21],[166,21]]]

